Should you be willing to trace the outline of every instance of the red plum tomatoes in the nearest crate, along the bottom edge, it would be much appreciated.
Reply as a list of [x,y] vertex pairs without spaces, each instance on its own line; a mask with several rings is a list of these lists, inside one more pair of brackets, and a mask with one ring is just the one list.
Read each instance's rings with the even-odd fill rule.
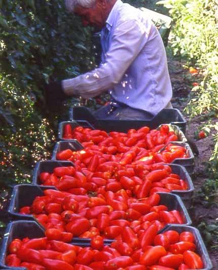
[[143,243],[126,227],[122,238],[111,246],[99,235],[90,247],[70,245],[51,238],[15,239],[9,246],[6,263],[30,270],[186,270],[202,269],[201,257],[195,252],[195,238],[189,231],[166,230],[157,234],[153,227]]

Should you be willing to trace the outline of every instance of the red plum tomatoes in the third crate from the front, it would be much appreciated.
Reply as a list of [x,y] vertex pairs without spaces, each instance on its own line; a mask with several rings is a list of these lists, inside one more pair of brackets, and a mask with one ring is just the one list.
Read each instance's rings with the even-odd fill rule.
[[93,155],[86,167],[78,171],[78,167],[56,167],[52,173],[43,172],[40,182],[45,186],[55,186],[58,190],[76,195],[88,192],[105,193],[128,190],[130,195],[143,198],[155,192],[184,191],[187,182],[167,164],[155,163],[121,165],[115,161],[99,163],[97,155]]

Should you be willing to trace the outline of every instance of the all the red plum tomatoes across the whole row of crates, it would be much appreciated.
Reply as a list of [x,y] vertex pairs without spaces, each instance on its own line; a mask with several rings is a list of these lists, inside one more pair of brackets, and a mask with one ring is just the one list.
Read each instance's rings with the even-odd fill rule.
[[[45,227],[45,237],[13,240],[7,265],[28,270],[203,268],[191,232],[159,233],[166,224],[185,220],[161,205],[157,192],[188,189],[164,164],[187,157],[185,148],[169,143],[177,137],[167,125],[110,134],[65,125],[64,137],[77,139],[84,150],[59,152],[58,159],[75,166],[41,173],[41,183],[58,190],[44,190],[20,213],[32,214]],[[90,238],[90,247],[68,244],[73,237]],[[114,242],[104,245],[106,239]]]

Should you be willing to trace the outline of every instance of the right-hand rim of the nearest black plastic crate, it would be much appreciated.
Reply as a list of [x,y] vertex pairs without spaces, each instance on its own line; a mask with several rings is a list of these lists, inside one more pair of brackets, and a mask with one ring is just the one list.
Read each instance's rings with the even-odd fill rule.
[[[168,231],[168,230],[175,230],[178,233],[181,233],[183,231],[190,231],[194,234],[195,237],[195,245],[197,248],[197,253],[201,256],[203,263],[204,263],[204,268],[202,270],[210,270],[213,268],[213,265],[211,263],[211,260],[209,258],[207,249],[204,245],[204,242],[202,240],[201,234],[198,229],[187,226],[187,225],[168,225],[166,228],[164,228],[160,233]],[[214,268],[215,269],[215,268]]]

